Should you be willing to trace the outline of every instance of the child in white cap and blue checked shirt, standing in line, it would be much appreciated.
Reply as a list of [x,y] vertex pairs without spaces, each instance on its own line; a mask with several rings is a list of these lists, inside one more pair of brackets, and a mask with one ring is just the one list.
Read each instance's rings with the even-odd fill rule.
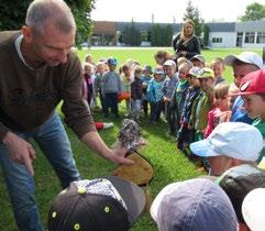
[[169,134],[176,136],[175,125],[175,106],[173,102],[173,96],[178,84],[178,77],[176,73],[176,63],[168,59],[164,64],[164,70],[166,73],[166,79],[163,82],[163,100],[165,107],[165,116],[169,127]]

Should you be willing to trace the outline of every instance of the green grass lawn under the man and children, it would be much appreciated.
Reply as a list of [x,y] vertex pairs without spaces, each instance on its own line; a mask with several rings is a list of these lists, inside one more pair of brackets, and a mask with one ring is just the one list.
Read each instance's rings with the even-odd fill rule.
[[[157,50],[88,50],[78,52],[81,61],[87,53],[93,56],[95,62],[101,57],[114,56],[118,58],[119,64],[122,64],[128,58],[136,59],[141,64],[150,64],[155,66],[154,53]],[[172,50],[168,48],[170,52]],[[202,55],[207,62],[210,62],[213,57],[224,57],[228,54],[239,54],[243,50],[211,50],[203,51]],[[261,51],[255,51],[262,53]],[[224,77],[232,81],[231,68],[227,68]],[[121,106],[121,111],[124,112],[124,106]],[[57,108],[60,113],[60,108]],[[62,116],[63,117],[63,116]],[[99,112],[95,113],[96,121],[103,121],[103,118]],[[108,145],[111,145],[115,139],[121,125],[121,121],[111,119],[109,121],[114,122],[114,128],[100,132],[101,138]],[[141,150],[141,153],[151,162],[154,166],[154,178],[150,184],[151,195],[154,198],[157,193],[167,184],[192,178],[199,176],[196,166],[190,163],[184,154],[177,151],[174,140],[166,135],[166,123],[159,123],[152,125],[147,119],[142,119],[142,132],[143,136],[147,140],[148,145]],[[66,128],[67,129],[67,128]],[[99,157],[97,154],[88,150],[77,136],[67,129],[71,147],[75,154],[77,167],[80,170],[84,178],[96,178],[110,174],[115,165]],[[36,150],[36,161],[34,162],[35,182],[36,182],[36,200],[41,211],[43,224],[46,227],[47,212],[53,198],[62,190],[58,180],[43,156],[38,147],[34,145]],[[3,182],[3,177],[0,169],[0,231],[15,231],[14,218],[11,210],[7,188]],[[137,223],[132,230],[135,231],[153,231],[156,230],[155,223],[152,221],[148,212],[144,212]]]

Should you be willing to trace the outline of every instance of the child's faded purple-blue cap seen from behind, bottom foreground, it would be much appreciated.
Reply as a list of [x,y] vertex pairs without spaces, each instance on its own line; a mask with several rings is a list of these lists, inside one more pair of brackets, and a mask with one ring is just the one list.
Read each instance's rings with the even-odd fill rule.
[[238,219],[230,199],[207,178],[167,185],[158,193],[150,211],[158,231],[238,230]]

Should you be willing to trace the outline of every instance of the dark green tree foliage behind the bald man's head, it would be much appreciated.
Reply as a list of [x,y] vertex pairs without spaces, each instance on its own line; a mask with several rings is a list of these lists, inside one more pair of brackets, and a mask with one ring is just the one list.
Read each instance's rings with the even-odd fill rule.
[[[20,30],[24,24],[26,9],[31,0],[1,0],[0,1],[0,31]],[[76,43],[80,44],[88,40],[91,33],[90,12],[95,8],[95,0],[66,0],[73,10],[77,35]]]

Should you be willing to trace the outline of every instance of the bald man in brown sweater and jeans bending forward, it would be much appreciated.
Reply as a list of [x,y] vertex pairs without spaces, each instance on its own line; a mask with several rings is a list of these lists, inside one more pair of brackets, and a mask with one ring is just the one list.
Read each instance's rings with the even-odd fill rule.
[[35,204],[34,139],[64,188],[79,180],[70,143],[55,109],[63,101],[66,124],[95,152],[131,164],[126,150],[111,150],[99,136],[81,98],[81,65],[70,51],[76,23],[63,0],[35,0],[21,31],[0,33],[0,164],[18,228],[43,230]]

